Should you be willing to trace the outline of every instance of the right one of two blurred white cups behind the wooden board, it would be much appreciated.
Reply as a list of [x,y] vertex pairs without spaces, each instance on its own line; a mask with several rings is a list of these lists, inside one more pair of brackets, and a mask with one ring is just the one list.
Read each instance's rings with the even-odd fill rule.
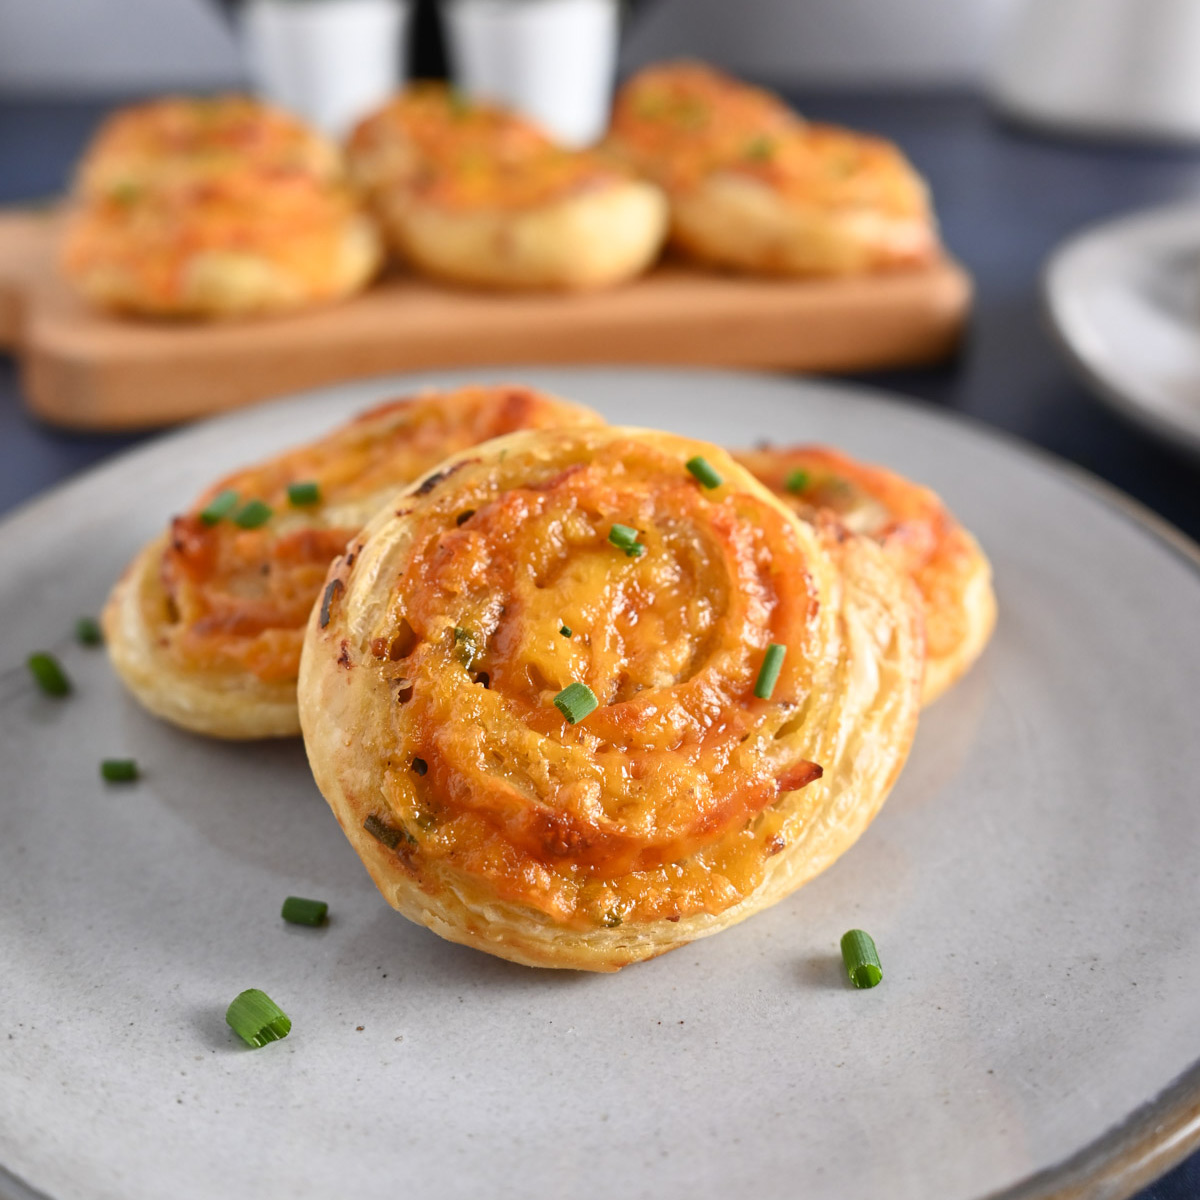
[[515,108],[566,145],[608,127],[617,70],[617,0],[449,0],[455,83]]

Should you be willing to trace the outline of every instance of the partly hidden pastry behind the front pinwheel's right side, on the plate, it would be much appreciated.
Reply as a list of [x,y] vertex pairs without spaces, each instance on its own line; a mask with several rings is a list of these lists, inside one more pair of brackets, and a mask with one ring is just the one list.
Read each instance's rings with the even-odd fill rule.
[[835,514],[912,576],[925,608],[925,704],[966,673],[996,624],[991,564],[936,493],[826,446],[733,457],[805,520]]

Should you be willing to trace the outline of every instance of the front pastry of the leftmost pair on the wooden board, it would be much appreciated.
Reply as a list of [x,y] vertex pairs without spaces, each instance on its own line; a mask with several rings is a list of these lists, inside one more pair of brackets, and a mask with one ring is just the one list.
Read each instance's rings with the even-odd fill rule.
[[228,174],[110,192],[67,220],[61,268],[103,308],[151,317],[287,312],[365,287],[379,234],[343,186]]

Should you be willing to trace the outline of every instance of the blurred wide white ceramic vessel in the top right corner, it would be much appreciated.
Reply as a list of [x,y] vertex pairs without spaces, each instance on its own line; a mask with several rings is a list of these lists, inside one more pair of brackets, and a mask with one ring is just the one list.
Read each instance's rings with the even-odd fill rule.
[[991,92],[1052,128],[1200,139],[1200,2],[1024,0]]

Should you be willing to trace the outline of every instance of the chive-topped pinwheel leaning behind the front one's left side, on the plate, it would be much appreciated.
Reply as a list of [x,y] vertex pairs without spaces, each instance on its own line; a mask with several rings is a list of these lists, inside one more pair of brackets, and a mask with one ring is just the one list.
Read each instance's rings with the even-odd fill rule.
[[118,674],[151,713],[221,738],[300,732],[308,611],[380,504],[446,455],[512,430],[600,425],[528,388],[392,401],[210,487],[137,556],[103,614]]

